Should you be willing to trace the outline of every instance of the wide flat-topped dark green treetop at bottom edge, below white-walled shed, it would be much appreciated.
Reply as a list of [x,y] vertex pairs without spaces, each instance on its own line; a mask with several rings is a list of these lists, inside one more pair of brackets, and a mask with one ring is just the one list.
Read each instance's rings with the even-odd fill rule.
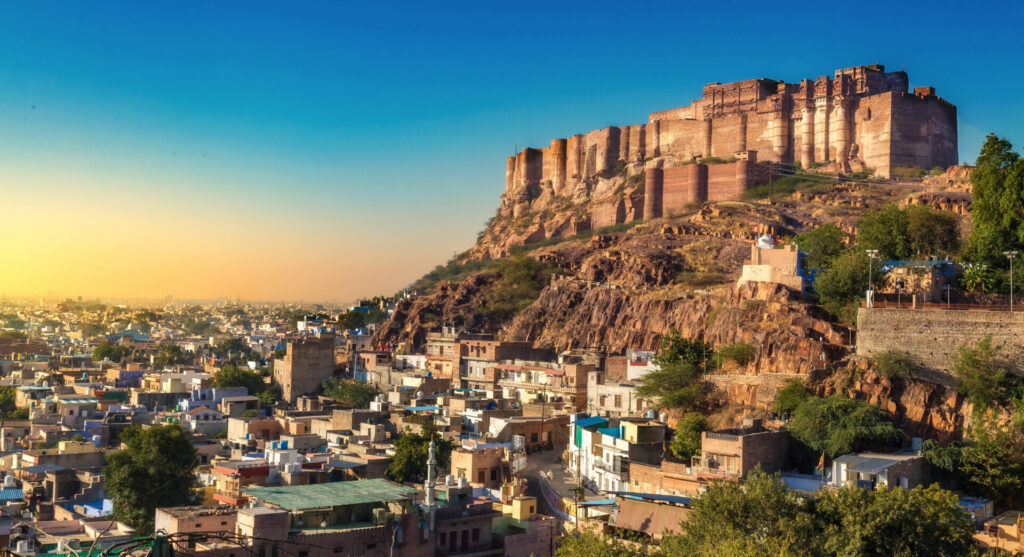
[[819,491],[819,554],[865,557],[972,555],[974,523],[959,498],[938,485]]

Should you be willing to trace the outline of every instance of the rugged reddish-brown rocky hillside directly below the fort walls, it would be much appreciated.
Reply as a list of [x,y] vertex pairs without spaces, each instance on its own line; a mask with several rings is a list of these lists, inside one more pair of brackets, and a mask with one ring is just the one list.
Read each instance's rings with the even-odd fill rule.
[[[950,180],[959,177],[950,175]],[[496,235],[512,232],[492,223],[472,250],[449,264],[474,271],[399,302],[375,341],[416,349],[428,331],[454,323],[554,350],[614,354],[656,348],[664,335],[678,331],[715,346],[741,342],[754,348],[746,366],[713,378],[720,386],[719,402],[726,406],[765,411],[774,391],[797,378],[822,394],[843,391],[881,403],[911,435],[951,438],[965,420],[954,391],[926,381],[886,382],[863,370],[863,362],[851,363],[854,333],[831,323],[799,293],[768,284],[735,287],[761,233],[786,237],[831,222],[852,234],[865,211],[887,203],[952,209],[948,200],[969,204],[970,194],[948,181],[815,182],[783,191],[774,204],[707,203],[686,214],[520,247],[495,243]],[[546,265],[536,292],[512,313],[490,310],[496,290],[508,286],[497,270],[507,259],[499,256]]]

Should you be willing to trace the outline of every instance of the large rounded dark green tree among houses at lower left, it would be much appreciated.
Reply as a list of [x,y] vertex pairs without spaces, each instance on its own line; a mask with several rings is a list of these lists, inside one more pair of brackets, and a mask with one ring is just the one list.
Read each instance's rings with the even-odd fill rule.
[[146,534],[157,507],[196,503],[196,448],[179,425],[130,427],[121,433],[121,451],[106,456],[103,486],[114,499],[114,514]]

